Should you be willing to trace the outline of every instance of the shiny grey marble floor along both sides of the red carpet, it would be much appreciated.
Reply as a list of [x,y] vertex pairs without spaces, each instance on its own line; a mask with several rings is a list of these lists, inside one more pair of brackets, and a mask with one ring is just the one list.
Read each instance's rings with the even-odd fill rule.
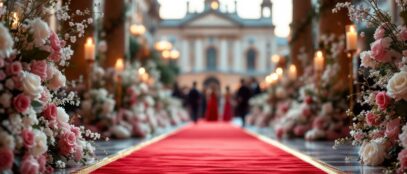
[[[235,120],[233,124],[237,126],[240,125],[238,120]],[[182,127],[182,126],[180,126]],[[120,153],[121,151],[134,147],[140,143],[147,142],[157,136],[168,134],[173,132],[179,127],[172,127],[168,129],[162,129],[146,138],[133,138],[127,140],[110,140],[110,141],[100,141],[96,142],[96,156],[97,160],[112,156],[114,154]],[[256,128],[248,127],[248,131],[255,134],[263,135],[273,140],[277,140],[274,133],[269,128]],[[376,174],[382,173],[383,168],[380,167],[369,167],[362,166],[358,162],[357,147],[351,145],[342,145],[336,149],[333,149],[333,142],[327,141],[317,141],[309,142],[304,141],[303,139],[287,139],[287,140],[278,140],[278,142],[283,145],[299,151],[305,155],[310,156],[318,162],[323,164],[328,164],[333,168],[336,168],[344,173],[369,173]],[[96,161],[95,161],[96,162]],[[57,170],[56,173],[72,173],[83,168],[83,166],[72,166],[67,169]]]

